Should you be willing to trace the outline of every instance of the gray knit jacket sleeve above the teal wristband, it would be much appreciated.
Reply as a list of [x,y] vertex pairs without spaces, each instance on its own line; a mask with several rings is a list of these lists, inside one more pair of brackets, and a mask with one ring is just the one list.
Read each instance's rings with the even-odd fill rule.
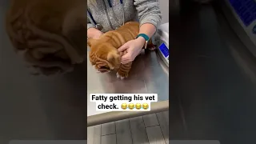
[[134,0],[134,6],[138,11],[140,26],[145,23],[150,23],[156,27],[159,26],[162,15],[158,0]]

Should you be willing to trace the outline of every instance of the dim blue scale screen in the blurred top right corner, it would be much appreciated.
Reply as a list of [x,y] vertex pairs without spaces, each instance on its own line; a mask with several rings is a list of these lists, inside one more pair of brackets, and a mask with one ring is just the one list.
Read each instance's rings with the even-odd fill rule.
[[256,19],[256,2],[254,0],[229,0],[245,26],[250,26]]

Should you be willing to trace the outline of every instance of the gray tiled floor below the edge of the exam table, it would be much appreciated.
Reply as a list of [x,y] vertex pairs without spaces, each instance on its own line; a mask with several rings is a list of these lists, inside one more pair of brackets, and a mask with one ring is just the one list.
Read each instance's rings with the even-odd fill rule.
[[90,144],[169,144],[169,111],[90,126]]

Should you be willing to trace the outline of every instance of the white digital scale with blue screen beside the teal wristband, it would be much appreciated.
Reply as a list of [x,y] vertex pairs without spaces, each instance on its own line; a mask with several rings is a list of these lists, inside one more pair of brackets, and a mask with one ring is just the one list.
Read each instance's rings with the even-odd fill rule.
[[152,38],[153,43],[157,46],[157,53],[169,67],[169,22],[158,26],[158,30]]

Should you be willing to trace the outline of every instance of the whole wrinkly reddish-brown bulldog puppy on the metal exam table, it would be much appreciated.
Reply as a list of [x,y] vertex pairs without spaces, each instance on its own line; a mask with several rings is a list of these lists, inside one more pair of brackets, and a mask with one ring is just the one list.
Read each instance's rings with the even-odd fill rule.
[[[117,70],[118,78],[127,78],[132,62],[125,65],[121,64],[122,54],[118,53],[118,48],[126,42],[133,40],[139,33],[138,22],[126,22],[124,26],[117,30],[111,30],[102,34],[99,39],[88,39],[88,46],[90,46],[90,62],[95,69],[101,73],[110,72],[110,70]],[[154,46],[149,42],[149,46]]]

